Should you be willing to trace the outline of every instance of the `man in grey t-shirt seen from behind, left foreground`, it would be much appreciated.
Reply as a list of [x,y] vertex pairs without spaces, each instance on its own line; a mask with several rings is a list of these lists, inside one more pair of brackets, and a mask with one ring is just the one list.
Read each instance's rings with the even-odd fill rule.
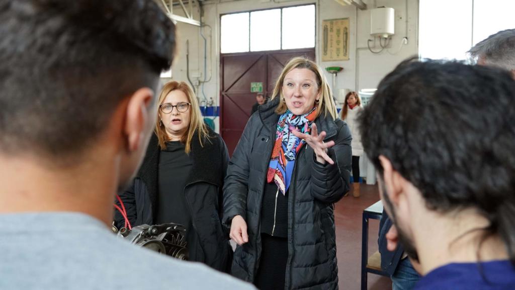
[[110,231],[175,49],[157,3],[0,0],[0,35],[0,289],[254,289]]

